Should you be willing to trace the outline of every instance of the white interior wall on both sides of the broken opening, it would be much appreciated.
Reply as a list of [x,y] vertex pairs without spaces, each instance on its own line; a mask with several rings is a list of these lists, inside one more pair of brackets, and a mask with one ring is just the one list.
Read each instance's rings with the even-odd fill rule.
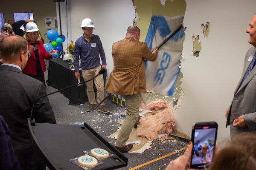
[[[216,121],[220,141],[230,137],[225,128],[224,113],[232,100],[233,91],[241,76],[249,36],[245,33],[255,11],[255,0],[186,0],[183,44],[182,89],[185,93],[181,106],[175,111],[177,130],[191,135],[194,122]],[[107,58],[108,74],[113,69],[111,48],[122,40],[132,25],[134,7],[131,0],[67,0],[61,3],[62,29],[68,23],[69,39],[82,35],[81,21],[91,18],[96,25],[94,34],[101,37]],[[58,12],[57,12],[58,15]],[[210,22],[209,37],[204,39],[201,24]],[[63,34],[66,36],[66,33]],[[202,50],[198,58],[192,55],[192,36],[199,35]],[[66,45],[67,46],[67,45]],[[65,47],[64,46],[64,49]]]

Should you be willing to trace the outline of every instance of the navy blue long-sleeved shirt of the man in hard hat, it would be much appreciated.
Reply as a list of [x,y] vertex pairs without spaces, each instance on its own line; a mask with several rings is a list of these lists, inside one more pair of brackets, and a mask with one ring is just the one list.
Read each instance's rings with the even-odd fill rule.
[[88,70],[96,68],[100,65],[100,58],[102,60],[102,65],[107,65],[105,52],[102,47],[102,42],[98,35],[93,34],[90,42],[84,39],[84,35],[79,37],[75,42],[74,47],[74,65],[75,71],[78,71],[79,66],[79,56],[81,59],[81,68],[83,70]]

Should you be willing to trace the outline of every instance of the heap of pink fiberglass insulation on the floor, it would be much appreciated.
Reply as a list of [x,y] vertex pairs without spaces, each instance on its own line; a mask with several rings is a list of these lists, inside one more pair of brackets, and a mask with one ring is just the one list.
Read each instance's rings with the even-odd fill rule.
[[141,118],[137,129],[137,136],[155,140],[157,135],[164,135],[158,139],[163,141],[168,138],[169,133],[172,132],[172,127],[175,125],[176,120],[172,114],[172,109],[168,107],[160,113],[148,114]]

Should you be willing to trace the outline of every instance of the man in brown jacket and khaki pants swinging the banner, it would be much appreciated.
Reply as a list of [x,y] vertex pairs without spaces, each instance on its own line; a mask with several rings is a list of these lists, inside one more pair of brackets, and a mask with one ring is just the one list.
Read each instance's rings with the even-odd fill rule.
[[140,93],[146,93],[144,59],[155,61],[157,51],[148,49],[140,42],[140,29],[129,26],[126,37],[112,45],[114,69],[109,75],[105,89],[111,94],[120,94],[125,99],[126,116],[119,131],[115,147],[122,153],[128,152],[133,144],[125,145],[133,127],[139,121]]

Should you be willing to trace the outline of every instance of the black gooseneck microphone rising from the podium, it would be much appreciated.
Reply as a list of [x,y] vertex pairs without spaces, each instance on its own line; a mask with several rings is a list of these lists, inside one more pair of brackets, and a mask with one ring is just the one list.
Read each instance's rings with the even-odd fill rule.
[[44,96],[40,96],[40,97],[38,97],[37,99],[35,99],[34,105],[32,106],[31,115],[30,115],[30,118],[29,118],[31,125],[32,125],[32,126],[35,126],[35,119],[34,119],[34,117],[35,117],[35,111],[36,111],[35,104],[36,104],[36,102],[37,102],[39,99],[41,99],[41,98],[43,98],[43,97],[46,97],[46,96],[49,96],[49,95],[51,95],[51,94],[55,94],[55,93],[60,92],[60,91],[64,91],[64,90],[66,90],[66,89],[68,89],[68,88],[73,88],[73,87],[75,87],[75,86],[77,86],[77,85],[81,85],[81,84],[83,84],[83,83],[85,83],[85,82],[90,82],[91,80],[95,79],[97,76],[99,76],[100,74],[103,74],[103,73],[105,73],[105,72],[106,72],[106,69],[105,69],[105,68],[102,68],[102,69],[100,69],[99,73],[98,73],[95,77],[93,77],[92,79],[89,79],[89,80],[86,80],[86,81],[77,83],[77,84],[75,84],[75,85],[71,85],[71,86],[69,86],[69,87],[67,87],[67,88],[63,88],[63,89],[61,89],[61,90],[54,91],[54,92],[52,92],[52,93],[46,94],[46,95],[44,95]]

